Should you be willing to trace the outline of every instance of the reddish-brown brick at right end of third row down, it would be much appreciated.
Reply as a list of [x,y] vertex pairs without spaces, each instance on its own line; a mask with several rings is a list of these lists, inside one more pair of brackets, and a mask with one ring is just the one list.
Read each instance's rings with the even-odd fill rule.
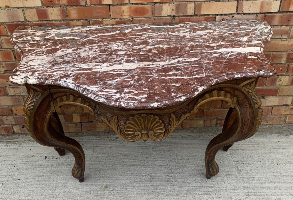
[[270,25],[292,25],[293,14],[258,15],[257,19],[266,20]]

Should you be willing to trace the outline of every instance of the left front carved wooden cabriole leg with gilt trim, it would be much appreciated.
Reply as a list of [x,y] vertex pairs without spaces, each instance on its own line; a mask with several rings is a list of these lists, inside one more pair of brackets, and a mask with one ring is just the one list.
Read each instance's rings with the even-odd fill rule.
[[25,123],[30,135],[38,143],[70,151],[75,158],[72,176],[84,181],[85,156],[81,145],[74,139],[64,136],[58,125],[55,110],[52,108],[52,97],[49,91],[28,86],[29,96],[25,102]]

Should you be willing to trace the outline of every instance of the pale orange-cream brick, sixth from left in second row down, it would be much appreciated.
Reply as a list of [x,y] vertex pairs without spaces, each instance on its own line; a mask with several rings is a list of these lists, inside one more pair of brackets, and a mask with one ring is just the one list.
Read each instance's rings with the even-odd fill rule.
[[195,5],[195,14],[229,14],[236,12],[237,1],[198,3]]

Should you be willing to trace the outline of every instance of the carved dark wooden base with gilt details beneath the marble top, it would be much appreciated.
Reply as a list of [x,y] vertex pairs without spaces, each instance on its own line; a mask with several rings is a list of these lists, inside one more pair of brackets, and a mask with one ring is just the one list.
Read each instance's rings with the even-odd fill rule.
[[125,141],[148,138],[166,139],[176,126],[200,105],[211,100],[224,100],[230,106],[222,133],[214,137],[205,152],[206,177],[219,172],[215,155],[219,149],[227,151],[234,142],[251,137],[261,122],[261,101],[255,92],[258,78],[230,80],[207,88],[185,102],[165,108],[132,110],[95,102],[67,88],[48,85],[28,85],[29,96],[24,105],[25,124],[30,136],[38,143],[53,146],[59,155],[65,150],[75,157],[72,176],[84,181],[85,155],[81,145],[64,135],[57,111],[62,105],[77,105],[106,122]]

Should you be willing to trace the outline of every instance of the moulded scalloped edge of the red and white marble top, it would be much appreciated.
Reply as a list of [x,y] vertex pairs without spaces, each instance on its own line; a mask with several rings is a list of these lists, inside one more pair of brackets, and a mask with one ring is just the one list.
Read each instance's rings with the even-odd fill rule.
[[[264,20],[248,20],[248,21],[264,21]],[[148,23],[148,24],[152,24],[152,23]],[[131,25],[131,24],[129,24],[129,25]],[[89,27],[91,27],[91,26],[96,26],[96,25],[89,25]],[[122,25],[103,25],[103,26],[106,27],[106,26],[122,26]],[[270,27],[270,34],[263,40],[263,42],[260,46],[261,53],[263,53],[263,49],[264,49],[265,45],[270,41],[271,37],[272,37],[272,28]],[[21,48],[18,45],[16,45],[16,43],[13,41],[13,35],[11,37],[11,45],[13,46],[14,49],[16,49],[16,51],[21,56],[21,61],[18,64],[18,65],[20,65],[23,60],[23,52],[22,52]],[[267,64],[272,65],[268,59],[267,59],[267,61],[268,61]],[[15,71],[16,71],[16,69],[13,70],[13,73]],[[176,97],[173,99],[168,99],[168,100],[163,100],[163,101],[154,101],[154,102],[115,101],[112,99],[108,99],[108,98],[96,95],[96,94],[90,92],[90,90],[86,87],[81,87],[81,86],[78,86],[74,83],[69,83],[67,81],[60,81],[60,80],[57,81],[57,80],[53,80],[53,79],[42,79],[42,78],[30,79],[27,76],[23,76],[22,78],[14,79],[13,75],[11,75],[9,77],[9,81],[12,83],[15,83],[15,84],[27,83],[30,85],[34,85],[34,84],[38,84],[37,80],[45,80],[42,83],[42,85],[55,85],[55,86],[60,86],[60,87],[64,87],[64,88],[69,88],[69,89],[75,90],[75,91],[87,96],[88,98],[91,98],[92,100],[94,100],[96,102],[104,103],[106,105],[110,105],[110,106],[114,106],[114,107],[123,107],[123,108],[128,108],[128,109],[141,109],[141,110],[143,110],[143,109],[151,109],[151,108],[163,108],[163,107],[175,105],[179,102],[184,102],[185,100],[188,100],[188,99],[193,98],[196,95],[200,94],[203,90],[209,88],[210,86],[217,84],[217,83],[222,83],[224,81],[237,79],[240,77],[241,78],[257,78],[257,77],[267,78],[267,77],[271,77],[275,74],[276,74],[275,68],[273,68],[272,70],[268,70],[268,71],[258,70],[256,72],[241,72],[241,74],[240,73],[226,74],[223,76],[218,76],[217,79],[212,79],[212,80],[206,82],[202,86],[198,86],[195,90],[191,91],[190,93],[186,93],[185,95],[182,95],[182,96],[179,96],[179,97]],[[226,78],[227,75],[230,75],[230,77],[233,77],[233,78],[228,79],[228,78]],[[62,83],[62,84],[60,84],[60,83]],[[172,104],[168,103],[168,101],[170,101],[170,100],[172,100],[172,102],[173,102]]]

